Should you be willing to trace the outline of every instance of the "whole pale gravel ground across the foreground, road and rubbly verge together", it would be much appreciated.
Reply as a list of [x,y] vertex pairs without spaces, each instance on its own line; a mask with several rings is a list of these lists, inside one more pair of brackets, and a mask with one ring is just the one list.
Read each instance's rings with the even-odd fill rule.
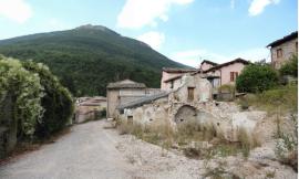
[[0,166],[0,178],[297,178],[290,167],[276,161],[274,144],[254,149],[248,158],[197,160],[131,135],[118,135],[109,126],[106,120],[76,125],[55,143]]

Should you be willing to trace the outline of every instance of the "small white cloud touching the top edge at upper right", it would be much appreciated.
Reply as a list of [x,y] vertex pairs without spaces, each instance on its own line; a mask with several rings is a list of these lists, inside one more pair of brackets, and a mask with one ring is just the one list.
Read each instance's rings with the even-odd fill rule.
[[248,9],[249,15],[258,15],[269,4],[277,4],[280,0],[252,0]]

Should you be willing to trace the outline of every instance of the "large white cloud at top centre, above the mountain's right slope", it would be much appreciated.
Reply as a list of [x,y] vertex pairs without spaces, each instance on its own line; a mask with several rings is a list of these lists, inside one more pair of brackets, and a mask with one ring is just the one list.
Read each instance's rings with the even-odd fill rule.
[[126,0],[117,17],[117,27],[140,29],[157,25],[157,20],[167,21],[172,4],[188,4],[194,0]]

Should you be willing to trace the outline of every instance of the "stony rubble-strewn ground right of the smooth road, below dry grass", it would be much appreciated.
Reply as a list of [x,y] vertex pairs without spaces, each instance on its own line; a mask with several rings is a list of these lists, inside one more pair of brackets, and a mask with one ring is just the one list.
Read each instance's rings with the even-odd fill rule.
[[166,151],[130,135],[122,138],[116,148],[137,168],[134,172],[136,178],[297,178],[297,172],[290,167],[276,161],[270,147],[256,148],[248,158],[237,155],[197,160],[175,150]]

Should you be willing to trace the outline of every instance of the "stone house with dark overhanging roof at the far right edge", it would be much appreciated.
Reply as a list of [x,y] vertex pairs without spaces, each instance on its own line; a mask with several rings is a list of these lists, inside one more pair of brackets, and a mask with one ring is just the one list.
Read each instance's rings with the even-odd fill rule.
[[267,45],[271,52],[271,64],[280,69],[293,54],[298,54],[298,31]]

